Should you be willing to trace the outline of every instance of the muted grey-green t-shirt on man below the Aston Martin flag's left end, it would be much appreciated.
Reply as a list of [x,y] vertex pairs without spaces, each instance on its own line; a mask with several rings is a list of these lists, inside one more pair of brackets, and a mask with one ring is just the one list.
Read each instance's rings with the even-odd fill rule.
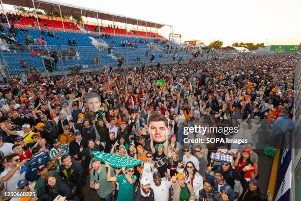
[[[113,168],[110,168],[111,170],[111,176],[115,176],[115,172],[113,171]],[[107,168],[102,165],[100,173],[98,173],[97,170],[91,169],[90,171],[90,183],[99,183],[100,187],[96,190],[98,196],[100,198],[105,198],[107,195],[112,193],[113,187],[112,182],[107,181]]]

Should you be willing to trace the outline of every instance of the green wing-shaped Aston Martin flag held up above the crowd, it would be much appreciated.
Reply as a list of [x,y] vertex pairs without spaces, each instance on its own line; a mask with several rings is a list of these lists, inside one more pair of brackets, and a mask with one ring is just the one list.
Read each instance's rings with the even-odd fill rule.
[[141,164],[140,160],[108,154],[100,151],[92,151],[92,155],[103,163],[108,162],[111,167],[132,167]]

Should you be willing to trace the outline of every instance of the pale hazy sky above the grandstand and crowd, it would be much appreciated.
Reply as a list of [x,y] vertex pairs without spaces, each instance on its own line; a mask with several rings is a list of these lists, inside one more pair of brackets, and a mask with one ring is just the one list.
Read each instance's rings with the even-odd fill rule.
[[[301,0],[60,0],[174,26],[184,40],[268,45],[301,42]],[[10,6],[4,5],[4,9]],[[169,27],[164,28],[168,37]]]

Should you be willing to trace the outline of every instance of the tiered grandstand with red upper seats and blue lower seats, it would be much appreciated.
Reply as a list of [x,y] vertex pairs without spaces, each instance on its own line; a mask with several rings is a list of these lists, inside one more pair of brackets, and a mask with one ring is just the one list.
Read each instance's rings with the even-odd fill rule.
[[[4,10],[2,10],[5,18],[10,22],[1,23],[5,37],[13,35],[13,31],[16,33],[14,35],[16,43],[4,44],[1,42],[2,51],[0,57],[2,64],[9,67],[11,75],[20,74],[24,70],[24,63],[26,63],[27,67],[32,66],[37,68],[42,74],[48,73],[45,71],[42,57],[47,56],[49,50],[55,51],[58,55],[57,67],[53,70],[54,73],[58,74],[68,72],[71,67],[76,65],[80,65],[81,70],[85,71],[98,70],[106,65],[116,66],[120,56],[125,59],[124,66],[126,67],[138,66],[142,63],[175,63],[181,57],[183,61],[187,61],[191,57],[191,52],[178,49],[177,44],[168,41],[163,35],[158,33],[158,30],[161,31],[161,29],[163,33],[164,26],[172,27],[170,25],[48,0],[34,0],[32,2],[25,0],[3,0],[2,2],[48,11],[52,11],[57,6],[60,13],[71,15],[78,15],[79,13],[82,15],[83,11],[85,11],[82,17],[95,18],[94,16],[99,15],[102,20],[107,21],[112,21],[112,17],[114,16],[113,25],[115,25],[115,22],[127,22],[125,23],[125,29],[124,27],[117,29],[116,26],[109,27],[103,24],[92,25],[92,23],[88,22],[77,26],[69,19],[61,18],[61,21],[59,21],[58,18],[49,19],[43,15],[30,16],[20,12],[14,12],[19,15],[22,14],[19,19],[13,16],[7,17]],[[137,29],[128,30],[126,28],[127,25],[136,25]],[[138,25],[145,25],[145,30],[148,30],[148,32],[138,29]],[[151,30],[151,28],[154,28],[154,30]],[[30,34],[32,40],[40,38],[40,30],[44,30],[42,36],[47,42],[47,48],[49,48],[47,51],[33,42],[26,45],[26,35]],[[54,32],[55,36],[48,34],[51,32]],[[68,39],[74,39],[76,44],[69,45]],[[122,47],[122,41],[128,41],[132,45],[129,46],[126,44],[125,47]],[[70,54],[66,54],[66,52],[70,51],[72,52],[71,56]],[[155,58],[151,62],[150,58],[152,54],[154,54]]]

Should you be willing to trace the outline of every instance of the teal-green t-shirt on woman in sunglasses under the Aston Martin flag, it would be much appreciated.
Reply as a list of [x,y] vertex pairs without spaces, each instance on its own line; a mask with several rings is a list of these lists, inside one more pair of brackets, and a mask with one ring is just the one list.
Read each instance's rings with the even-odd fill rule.
[[[132,175],[131,178],[136,180],[137,176]],[[117,201],[132,201],[135,183],[130,184],[124,174],[118,175],[117,181],[119,182]]]

